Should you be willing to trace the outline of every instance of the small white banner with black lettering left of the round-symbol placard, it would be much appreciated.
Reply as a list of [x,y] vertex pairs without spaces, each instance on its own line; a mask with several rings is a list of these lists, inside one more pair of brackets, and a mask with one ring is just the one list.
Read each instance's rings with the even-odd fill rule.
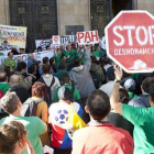
[[43,51],[46,51],[46,46],[48,45],[51,50],[54,50],[55,47],[53,46],[53,41],[52,38],[48,38],[48,40],[36,40],[35,41],[35,44],[36,44],[36,48],[38,46],[42,47]]

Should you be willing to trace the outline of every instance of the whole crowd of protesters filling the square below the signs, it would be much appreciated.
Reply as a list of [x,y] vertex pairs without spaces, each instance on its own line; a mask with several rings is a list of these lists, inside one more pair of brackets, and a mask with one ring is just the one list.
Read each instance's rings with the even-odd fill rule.
[[0,67],[0,153],[154,153],[153,73],[124,73],[99,44],[28,64],[13,51]]

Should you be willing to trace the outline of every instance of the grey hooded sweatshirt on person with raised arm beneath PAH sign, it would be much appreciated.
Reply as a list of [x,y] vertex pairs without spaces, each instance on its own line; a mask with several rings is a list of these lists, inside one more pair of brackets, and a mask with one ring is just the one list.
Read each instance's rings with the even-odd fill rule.
[[90,76],[91,58],[89,52],[85,51],[85,65],[72,68],[69,72],[70,80],[74,82],[75,88],[78,89],[80,97],[88,97],[96,88]]

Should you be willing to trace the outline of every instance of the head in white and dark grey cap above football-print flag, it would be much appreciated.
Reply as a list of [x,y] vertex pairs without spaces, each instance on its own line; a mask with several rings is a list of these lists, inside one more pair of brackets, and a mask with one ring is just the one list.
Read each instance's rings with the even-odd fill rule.
[[57,95],[58,95],[59,100],[74,101],[74,91],[72,91],[69,88],[65,86],[58,89]]

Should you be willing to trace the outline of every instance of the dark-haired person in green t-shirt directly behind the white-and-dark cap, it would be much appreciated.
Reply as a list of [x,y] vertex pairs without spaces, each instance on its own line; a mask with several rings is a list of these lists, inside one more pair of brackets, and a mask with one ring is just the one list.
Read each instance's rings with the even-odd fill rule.
[[[64,74],[62,76],[61,84],[62,84],[62,86],[65,86],[65,87],[69,88],[70,90],[74,90],[75,101],[78,102],[78,103],[81,103],[80,102],[80,95],[79,95],[78,90],[76,88],[74,88],[73,86],[70,86],[70,78],[69,78],[68,74]],[[54,92],[54,99],[53,99],[54,102],[58,102],[58,100],[59,100],[58,95],[57,95],[58,89],[59,88],[57,88]]]

